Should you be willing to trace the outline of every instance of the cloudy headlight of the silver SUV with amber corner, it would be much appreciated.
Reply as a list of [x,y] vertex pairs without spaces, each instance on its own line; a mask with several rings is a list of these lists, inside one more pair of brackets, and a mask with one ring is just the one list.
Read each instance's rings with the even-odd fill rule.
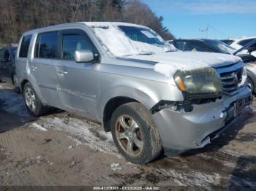
[[178,71],[174,75],[176,85],[182,92],[222,93],[222,81],[215,69],[203,68]]

